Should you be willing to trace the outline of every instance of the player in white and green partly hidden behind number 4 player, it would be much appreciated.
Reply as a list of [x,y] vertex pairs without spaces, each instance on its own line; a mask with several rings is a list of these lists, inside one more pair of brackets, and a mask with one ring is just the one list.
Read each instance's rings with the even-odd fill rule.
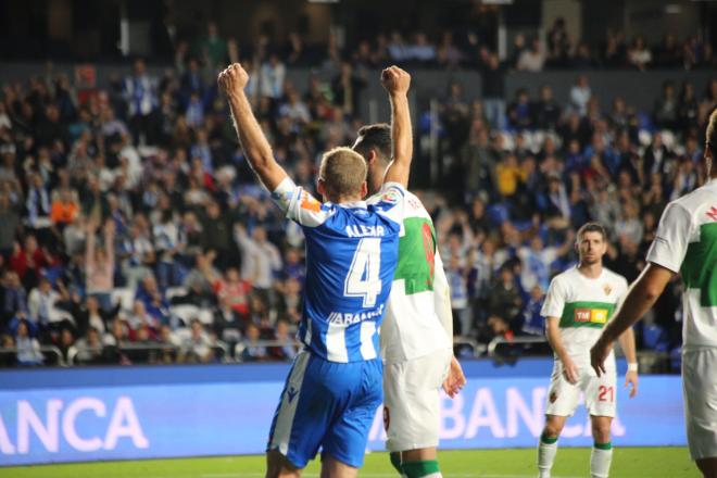
[[[378,191],[390,164],[391,128],[361,128],[353,150],[366,160],[369,193]],[[453,356],[451,294],[433,223],[411,192],[402,223],[399,266],[381,325],[387,446],[402,476],[438,478],[439,392],[442,385],[455,395],[465,377]]]

